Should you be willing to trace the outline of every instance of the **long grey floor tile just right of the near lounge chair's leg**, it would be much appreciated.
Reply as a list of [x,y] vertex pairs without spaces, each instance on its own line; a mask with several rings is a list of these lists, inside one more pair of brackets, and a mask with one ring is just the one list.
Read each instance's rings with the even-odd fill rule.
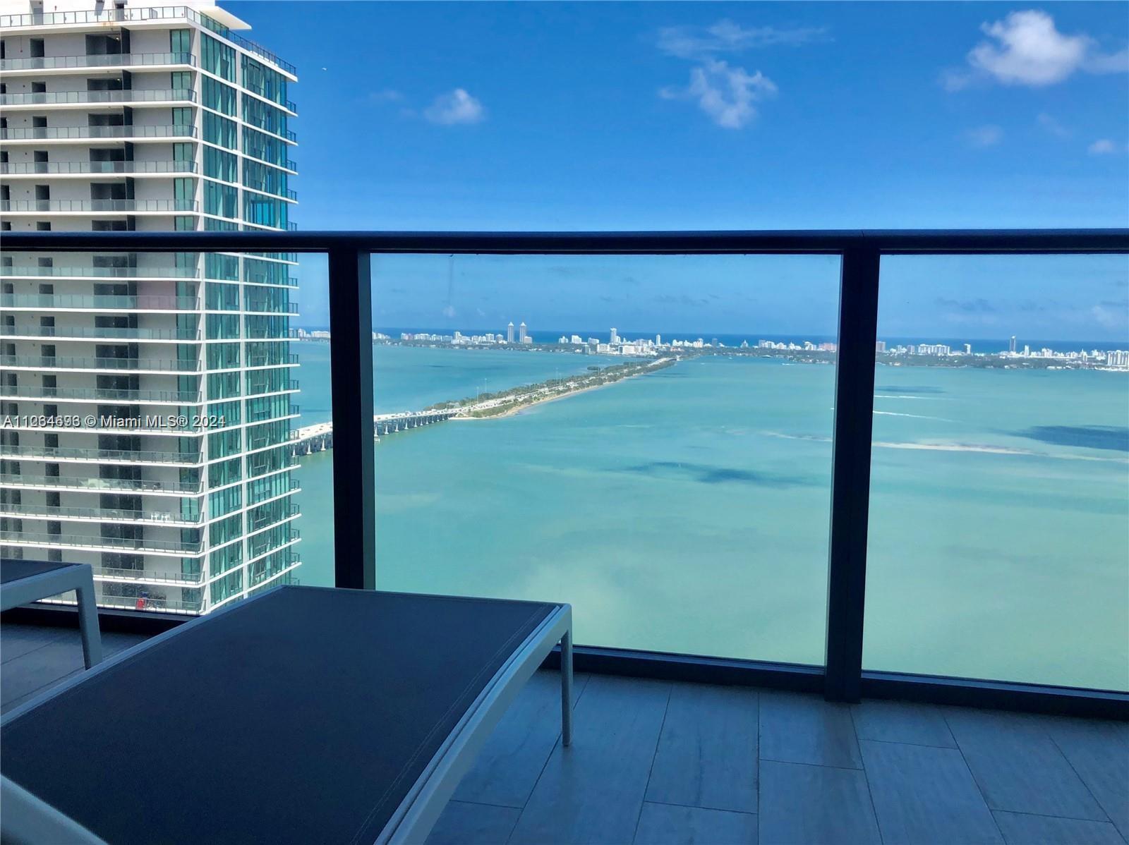
[[669,694],[662,681],[589,678],[572,746],[549,757],[510,842],[631,842]]

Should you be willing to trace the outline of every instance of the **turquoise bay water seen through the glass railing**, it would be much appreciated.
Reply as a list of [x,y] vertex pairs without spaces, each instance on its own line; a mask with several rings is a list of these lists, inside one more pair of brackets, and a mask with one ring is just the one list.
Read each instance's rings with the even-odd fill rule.
[[[303,423],[327,419],[307,397],[327,347],[296,347]],[[574,360],[376,355],[380,411]],[[384,438],[377,582],[570,601],[579,642],[821,663],[833,386],[831,367],[700,358]],[[1129,379],[884,367],[877,386],[866,667],[1129,688]],[[299,472],[305,583],[332,582],[330,467]]]

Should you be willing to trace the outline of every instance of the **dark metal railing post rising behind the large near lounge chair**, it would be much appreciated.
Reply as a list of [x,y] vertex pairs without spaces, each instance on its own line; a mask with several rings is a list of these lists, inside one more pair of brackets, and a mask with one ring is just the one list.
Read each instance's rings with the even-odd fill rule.
[[358,244],[329,253],[333,389],[334,584],[376,589],[371,256]]

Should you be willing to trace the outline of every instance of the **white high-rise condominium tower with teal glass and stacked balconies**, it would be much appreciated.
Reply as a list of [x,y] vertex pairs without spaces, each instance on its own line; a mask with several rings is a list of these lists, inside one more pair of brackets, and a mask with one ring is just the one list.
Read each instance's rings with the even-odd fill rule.
[[[290,228],[295,69],[205,2],[0,1],[0,225]],[[0,243],[2,247],[2,243]],[[298,565],[286,253],[8,253],[0,553],[207,613]]]

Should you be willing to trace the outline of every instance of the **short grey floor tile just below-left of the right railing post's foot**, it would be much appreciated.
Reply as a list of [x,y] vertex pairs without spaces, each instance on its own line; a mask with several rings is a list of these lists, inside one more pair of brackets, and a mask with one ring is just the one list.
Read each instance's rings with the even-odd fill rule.
[[761,693],[761,759],[861,768],[850,706],[817,695]]

